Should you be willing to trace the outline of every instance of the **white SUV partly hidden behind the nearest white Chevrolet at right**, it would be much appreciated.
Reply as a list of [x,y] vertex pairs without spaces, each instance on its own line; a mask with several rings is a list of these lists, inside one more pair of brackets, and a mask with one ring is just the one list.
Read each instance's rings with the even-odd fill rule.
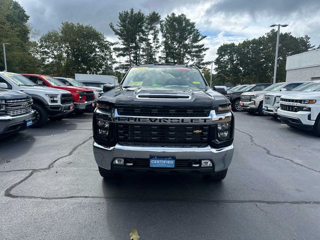
[[[307,81],[303,84],[301,82],[292,82],[291,86],[286,86],[285,91],[274,91],[274,92],[267,92],[263,98],[263,112],[267,115],[273,116],[274,118],[277,117],[277,109],[280,107],[280,97],[286,93],[292,92],[301,92],[301,91],[314,91],[318,87],[320,87],[320,81]],[[294,88],[295,87],[295,88]]]

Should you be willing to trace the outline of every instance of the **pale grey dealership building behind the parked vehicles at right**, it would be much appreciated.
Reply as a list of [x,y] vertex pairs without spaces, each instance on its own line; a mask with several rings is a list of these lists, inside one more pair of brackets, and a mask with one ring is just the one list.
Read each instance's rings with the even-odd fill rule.
[[285,81],[320,80],[320,49],[286,57]]

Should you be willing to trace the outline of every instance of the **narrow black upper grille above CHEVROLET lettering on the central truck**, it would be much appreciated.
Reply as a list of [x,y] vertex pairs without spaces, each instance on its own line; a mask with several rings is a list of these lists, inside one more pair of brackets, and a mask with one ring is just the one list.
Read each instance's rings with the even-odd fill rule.
[[116,105],[115,108],[119,115],[126,116],[206,117],[210,114],[207,107]]

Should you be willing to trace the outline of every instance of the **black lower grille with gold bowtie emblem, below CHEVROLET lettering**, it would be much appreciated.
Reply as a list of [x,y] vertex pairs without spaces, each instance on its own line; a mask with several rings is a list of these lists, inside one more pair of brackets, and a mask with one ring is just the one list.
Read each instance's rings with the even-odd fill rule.
[[209,126],[118,124],[117,132],[119,142],[151,144],[183,142],[199,146],[208,143]]

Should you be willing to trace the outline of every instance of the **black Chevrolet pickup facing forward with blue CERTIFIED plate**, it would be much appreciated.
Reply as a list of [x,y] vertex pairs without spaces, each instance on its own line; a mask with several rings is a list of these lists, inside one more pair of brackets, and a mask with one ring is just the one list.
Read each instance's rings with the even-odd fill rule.
[[119,172],[225,177],[233,155],[230,102],[195,66],[131,67],[93,114],[93,152],[103,177]]

